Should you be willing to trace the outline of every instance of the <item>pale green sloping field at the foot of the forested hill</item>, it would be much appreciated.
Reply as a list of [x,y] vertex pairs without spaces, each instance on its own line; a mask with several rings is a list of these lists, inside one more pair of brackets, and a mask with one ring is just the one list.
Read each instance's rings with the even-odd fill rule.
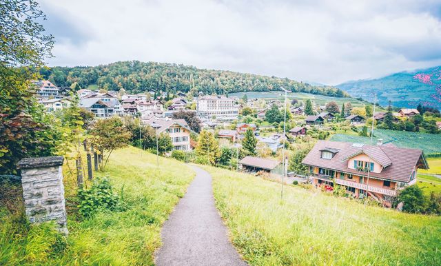
[[[285,99],[285,94],[283,92],[236,92],[229,94],[229,96],[236,96],[241,99],[244,94],[247,94],[248,99]],[[325,105],[329,101],[335,101],[336,103],[338,103],[339,106],[341,106],[342,103],[346,103],[348,101],[351,102],[353,107],[360,107],[366,104],[363,101],[358,101],[357,99],[353,98],[338,98],[320,94],[309,94],[304,92],[289,92],[288,98],[290,101],[292,99],[302,101],[310,99],[317,105]]]

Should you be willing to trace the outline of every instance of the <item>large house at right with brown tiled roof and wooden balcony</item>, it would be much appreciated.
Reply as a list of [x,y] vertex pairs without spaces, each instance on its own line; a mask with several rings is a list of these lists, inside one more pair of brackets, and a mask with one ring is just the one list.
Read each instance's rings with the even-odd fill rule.
[[394,145],[318,141],[303,159],[314,185],[342,185],[356,198],[369,196],[389,206],[398,190],[428,169],[422,150]]

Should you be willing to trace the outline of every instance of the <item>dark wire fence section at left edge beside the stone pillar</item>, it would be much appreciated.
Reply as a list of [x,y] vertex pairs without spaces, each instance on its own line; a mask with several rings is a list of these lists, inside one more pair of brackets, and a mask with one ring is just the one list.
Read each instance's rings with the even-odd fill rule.
[[11,214],[23,211],[21,176],[0,175],[0,208]]

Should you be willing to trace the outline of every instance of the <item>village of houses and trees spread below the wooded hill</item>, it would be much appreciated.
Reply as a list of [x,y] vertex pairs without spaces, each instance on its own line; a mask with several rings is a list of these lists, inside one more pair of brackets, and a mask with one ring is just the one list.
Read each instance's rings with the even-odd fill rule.
[[[80,89],[68,95],[65,91],[70,90],[63,93],[50,81],[34,84],[40,86],[40,103],[47,112],[68,108],[72,99],[77,97],[79,107],[92,112],[96,119],[128,116],[139,119],[160,134],[167,133],[172,141],[171,150],[165,152],[168,156],[188,157],[173,151],[192,152],[197,145],[198,133],[205,130],[212,132],[220,149],[225,147],[230,154],[226,163],[224,158],[224,165],[230,165],[232,169],[283,183],[311,183],[331,192],[334,184],[338,184],[353,198],[371,198],[384,207],[392,207],[398,190],[416,183],[418,169],[429,168],[422,150],[400,148],[392,143],[383,145],[382,139],[370,145],[329,141],[329,132],[350,131],[367,137],[371,126],[372,129],[374,125],[381,127],[388,111],[382,108],[373,113],[369,103],[364,108],[343,103],[340,110],[335,102],[315,105],[309,100],[294,99],[286,103],[288,121],[284,127],[283,99],[265,101],[203,93],[192,98],[183,92],[170,95],[156,90],[148,90],[147,94],[126,94],[123,90],[94,92]],[[420,116],[417,109],[407,108],[397,112],[389,110],[389,113],[389,123],[395,125],[413,125],[414,116]],[[196,125],[189,121],[191,119],[196,119]],[[433,133],[439,132],[441,122],[435,122],[433,127]],[[256,143],[251,150],[241,154],[239,150],[243,150],[247,131],[252,132]],[[296,156],[299,152],[304,153],[300,161],[290,155]],[[391,161],[395,160],[391,154],[397,152],[414,155],[404,161],[401,158]]]

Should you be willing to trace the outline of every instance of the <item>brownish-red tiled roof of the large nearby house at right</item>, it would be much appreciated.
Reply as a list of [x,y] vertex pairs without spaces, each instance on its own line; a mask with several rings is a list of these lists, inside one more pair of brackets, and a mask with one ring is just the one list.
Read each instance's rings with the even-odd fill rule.
[[[340,150],[331,159],[321,158],[320,150],[333,148]],[[363,173],[348,167],[348,160],[353,156],[364,153],[383,165],[380,173],[370,172],[373,178],[380,178],[392,181],[408,183],[413,168],[418,162],[427,169],[427,161],[422,150],[407,149],[393,145],[353,145],[353,143],[337,141],[318,141],[312,150],[305,156],[302,163],[316,167],[328,168],[349,174],[363,175]]]

